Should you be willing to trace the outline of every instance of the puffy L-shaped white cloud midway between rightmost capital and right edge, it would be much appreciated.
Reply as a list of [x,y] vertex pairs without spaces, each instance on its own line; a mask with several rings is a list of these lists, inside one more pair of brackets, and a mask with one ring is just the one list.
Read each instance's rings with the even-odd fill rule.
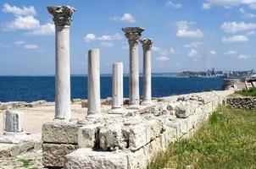
[[189,23],[186,20],[181,20],[176,23],[177,25],[177,36],[180,37],[193,37],[193,38],[202,38],[203,31],[202,30],[190,30],[189,26],[194,23]]

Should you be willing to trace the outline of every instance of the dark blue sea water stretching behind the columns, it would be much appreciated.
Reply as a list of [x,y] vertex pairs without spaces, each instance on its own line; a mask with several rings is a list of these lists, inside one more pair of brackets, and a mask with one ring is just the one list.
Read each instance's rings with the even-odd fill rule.
[[[101,77],[101,98],[111,96],[111,77]],[[87,78],[71,77],[71,97],[87,98]],[[152,78],[154,97],[220,90],[222,79]],[[142,78],[140,78],[142,95]],[[129,78],[124,78],[124,97],[129,97]],[[0,77],[0,101],[54,101],[54,77]]]

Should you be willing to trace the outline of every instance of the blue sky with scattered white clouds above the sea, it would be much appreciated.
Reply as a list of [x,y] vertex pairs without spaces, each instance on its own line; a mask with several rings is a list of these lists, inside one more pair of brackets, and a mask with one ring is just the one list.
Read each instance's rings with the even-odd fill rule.
[[[1,0],[0,75],[54,74],[55,38],[47,6],[76,8],[70,25],[71,74],[87,73],[87,52],[100,49],[101,74],[124,63],[122,27],[153,39],[152,71],[256,68],[256,0]],[[142,45],[139,44],[142,73]]]

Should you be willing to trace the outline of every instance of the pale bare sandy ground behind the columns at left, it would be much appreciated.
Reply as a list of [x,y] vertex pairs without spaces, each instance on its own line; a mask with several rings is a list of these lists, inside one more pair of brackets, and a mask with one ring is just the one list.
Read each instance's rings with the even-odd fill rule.
[[[110,106],[102,106],[103,112],[107,112]],[[54,106],[38,106],[14,109],[24,112],[24,129],[27,134],[41,133],[42,124],[53,121]],[[3,135],[3,112],[0,112],[0,135]],[[86,108],[81,107],[81,103],[71,105],[72,118],[80,120],[86,117]]]

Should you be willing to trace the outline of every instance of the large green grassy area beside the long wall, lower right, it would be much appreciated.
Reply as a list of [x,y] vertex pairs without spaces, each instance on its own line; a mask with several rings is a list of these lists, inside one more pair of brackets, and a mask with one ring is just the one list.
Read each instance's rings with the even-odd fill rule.
[[256,111],[221,106],[192,139],[159,153],[148,168],[256,168]]

